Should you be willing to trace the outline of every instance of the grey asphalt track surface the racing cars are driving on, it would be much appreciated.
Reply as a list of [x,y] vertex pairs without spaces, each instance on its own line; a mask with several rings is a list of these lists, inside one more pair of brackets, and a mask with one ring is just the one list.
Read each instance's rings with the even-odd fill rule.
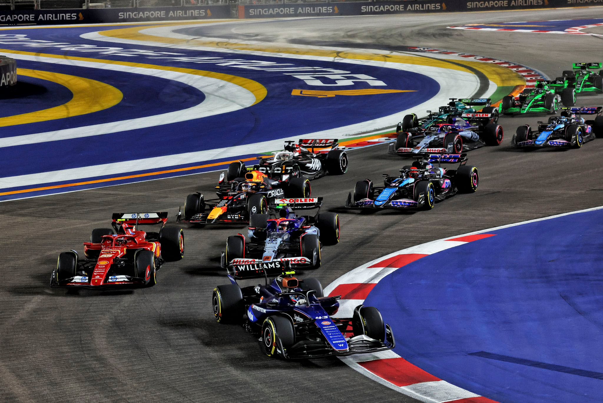
[[[602,8],[453,14],[454,24],[601,16]],[[595,15],[593,15],[595,14]],[[252,22],[211,28],[213,36],[256,40],[368,43],[386,49],[426,46],[523,63],[556,77],[572,62],[594,61],[601,38],[447,30],[450,15],[409,15]],[[204,29],[210,29],[204,28]],[[261,33],[261,34],[260,34]],[[285,34],[286,33],[286,34]],[[320,39],[320,40],[319,40]],[[563,49],[551,54],[555,47]],[[601,95],[579,104],[603,104]],[[341,211],[342,240],[323,250],[315,271],[324,285],[387,253],[431,240],[601,205],[603,140],[581,150],[514,151],[517,125],[537,116],[502,118],[504,144],[470,152],[480,185],[433,211],[415,214]],[[395,123],[395,122],[394,122]],[[404,165],[386,146],[350,152],[342,177],[312,183],[326,209],[339,211],[356,180],[378,181]],[[211,194],[216,173],[8,201],[0,205],[0,396],[5,401],[414,401],[356,373],[339,360],[269,360],[236,326],[217,325],[210,296],[227,282],[219,251],[230,228],[185,229],[186,256],[165,265],[148,290],[66,294],[48,279],[59,252],[81,250],[110,212],[169,211],[188,193]],[[244,228],[241,228],[244,230]],[[397,340],[403,343],[404,340]]]

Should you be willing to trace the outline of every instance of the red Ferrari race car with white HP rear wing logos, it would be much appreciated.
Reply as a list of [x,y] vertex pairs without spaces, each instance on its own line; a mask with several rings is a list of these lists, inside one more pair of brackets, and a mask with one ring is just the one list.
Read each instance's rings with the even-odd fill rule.
[[[153,287],[163,263],[178,261],[185,253],[182,229],[166,227],[167,221],[167,212],[113,214],[113,228],[92,230],[84,259],[75,250],[58,255],[51,287]],[[145,232],[140,225],[160,229]]]

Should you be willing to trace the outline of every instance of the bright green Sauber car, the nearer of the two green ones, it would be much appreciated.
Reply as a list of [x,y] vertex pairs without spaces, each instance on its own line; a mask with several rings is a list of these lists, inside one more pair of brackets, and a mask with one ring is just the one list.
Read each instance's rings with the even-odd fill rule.
[[[575,96],[572,97],[575,101]],[[569,100],[567,100],[568,103]],[[567,106],[573,106],[573,103]],[[548,81],[536,81],[534,88],[526,88],[516,98],[512,95],[502,98],[500,112],[505,115],[514,113],[540,112],[557,113],[561,107],[561,95],[552,89]]]

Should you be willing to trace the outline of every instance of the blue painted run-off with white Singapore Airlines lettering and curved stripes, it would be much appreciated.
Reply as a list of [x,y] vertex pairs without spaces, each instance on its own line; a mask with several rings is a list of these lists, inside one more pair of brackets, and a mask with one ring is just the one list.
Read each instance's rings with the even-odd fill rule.
[[[125,27],[125,26],[124,26]],[[120,27],[121,28],[121,27]],[[0,148],[0,172],[2,177],[24,176],[48,171],[77,169],[96,164],[127,162],[134,159],[170,156],[174,154],[191,153],[195,151],[212,150],[215,148],[230,147],[233,145],[255,144],[280,138],[298,139],[306,133],[321,130],[335,129],[345,125],[356,124],[371,119],[388,116],[402,109],[417,106],[440,91],[437,81],[414,72],[398,69],[371,66],[368,64],[336,63],[324,60],[287,59],[283,57],[257,56],[241,52],[213,52],[191,49],[172,49],[146,45],[128,45],[124,43],[107,43],[87,40],[80,37],[87,31],[98,30],[98,27],[74,28],[46,28],[45,30],[19,30],[16,28],[11,34],[22,34],[17,40],[0,38],[0,46],[5,49],[14,49],[26,52],[39,52],[41,54],[61,54],[69,57],[86,57],[92,59],[120,60],[121,62],[146,63],[173,68],[199,69],[228,75],[249,78],[262,84],[267,89],[267,97],[260,103],[236,112],[223,113],[200,119],[191,119],[183,122],[157,125],[144,129],[128,130],[124,125],[123,130],[86,138],[66,139],[62,141],[37,142],[34,144],[17,145]],[[114,28],[108,28],[114,29]],[[71,45],[95,46],[120,46],[126,49],[143,49],[156,52],[172,52],[170,55],[160,56],[118,56],[104,54],[107,48],[99,51],[86,49],[78,52],[61,49],[60,46],[52,47],[44,44],[30,47],[28,40],[52,39],[59,43]],[[204,57],[207,60],[192,58]],[[187,59],[191,58],[191,59]],[[323,78],[324,86],[309,85],[305,80],[286,74],[279,70],[268,71],[265,69],[250,69],[224,63],[224,60],[259,60],[266,63],[277,63],[277,68],[291,67],[303,68],[307,66],[317,69],[343,69],[356,75],[374,77],[386,85],[371,86],[365,81],[358,81],[349,86],[333,86],[335,80]],[[209,61],[208,61],[209,60]],[[28,135],[68,127],[84,127],[100,122],[113,122],[123,119],[139,118],[142,116],[159,115],[172,110],[185,109],[201,103],[205,95],[185,84],[165,78],[151,77],[149,75],[118,72],[112,70],[95,69],[73,63],[42,63],[26,60],[17,60],[17,66],[22,68],[42,71],[61,72],[63,74],[77,75],[102,81],[115,86],[124,94],[121,103],[100,112],[87,115],[74,116],[67,119],[50,120],[46,122],[24,124],[4,130],[0,137]],[[289,71],[289,73],[291,73]],[[33,81],[24,78],[24,81]],[[45,109],[51,105],[48,100],[54,92],[56,84],[44,83],[35,80],[37,86],[46,86],[45,99],[30,98],[19,102],[7,104],[2,112],[4,116],[30,112],[36,109]],[[331,98],[294,96],[292,90],[349,90],[349,89],[394,89],[411,90],[412,92],[396,92],[390,94],[364,95],[364,96],[338,96]],[[63,94],[65,90],[58,90]],[[68,97],[62,97],[68,100]],[[31,103],[28,103],[31,101]],[[39,105],[39,108],[36,107]],[[395,124],[396,122],[391,122]],[[119,123],[116,123],[119,125]],[[52,135],[46,136],[52,139]],[[272,150],[262,150],[272,151]],[[19,163],[16,163],[18,156]],[[221,159],[216,155],[215,159]],[[231,157],[234,159],[234,157]],[[204,161],[195,161],[195,163]],[[161,168],[180,168],[187,164],[174,159],[174,165]],[[132,167],[128,172],[136,172]],[[84,177],[78,180],[85,179]],[[147,178],[148,179],[148,178]],[[42,185],[42,183],[40,183]],[[5,188],[4,190],[7,190]],[[2,190],[2,189],[0,189]],[[13,196],[10,196],[13,197]],[[22,197],[22,196],[20,196]]]

